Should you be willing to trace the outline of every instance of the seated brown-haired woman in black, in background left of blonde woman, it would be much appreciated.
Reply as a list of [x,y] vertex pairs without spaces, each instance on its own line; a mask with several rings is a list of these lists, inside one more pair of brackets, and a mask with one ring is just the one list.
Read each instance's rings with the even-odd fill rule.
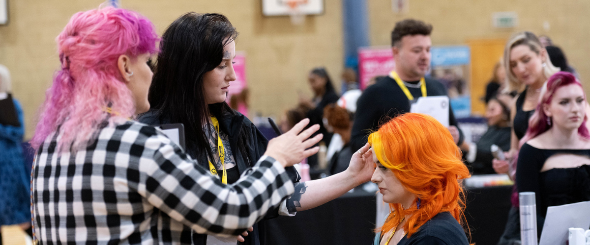
[[491,161],[491,145],[497,145],[501,150],[510,150],[510,109],[508,107],[512,98],[507,95],[490,98],[486,105],[487,131],[477,143],[470,143],[466,150],[466,159],[472,174],[496,173]]

